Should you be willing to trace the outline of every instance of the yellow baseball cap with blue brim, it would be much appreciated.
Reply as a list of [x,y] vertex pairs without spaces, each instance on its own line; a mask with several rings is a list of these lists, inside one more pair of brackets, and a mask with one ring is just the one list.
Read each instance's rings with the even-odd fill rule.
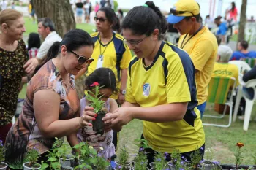
[[178,23],[185,17],[195,16],[200,13],[200,6],[195,0],[178,0],[174,8],[170,9],[168,23]]

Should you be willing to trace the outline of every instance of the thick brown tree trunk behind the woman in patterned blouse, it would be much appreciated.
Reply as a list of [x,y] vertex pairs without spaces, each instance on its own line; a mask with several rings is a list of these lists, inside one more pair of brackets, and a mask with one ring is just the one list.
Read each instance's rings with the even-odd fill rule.
[[75,28],[75,17],[69,0],[33,0],[37,18],[50,18],[59,36]]

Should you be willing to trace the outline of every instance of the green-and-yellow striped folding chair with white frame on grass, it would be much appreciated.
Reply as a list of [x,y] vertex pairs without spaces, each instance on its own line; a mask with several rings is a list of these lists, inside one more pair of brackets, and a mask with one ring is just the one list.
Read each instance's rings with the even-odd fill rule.
[[223,118],[225,116],[227,106],[229,106],[230,107],[229,123],[227,125],[203,123],[203,125],[212,125],[212,126],[217,126],[222,128],[227,128],[231,125],[232,108],[233,108],[232,96],[233,96],[235,86],[236,86],[236,79],[234,77],[231,77],[231,78],[211,77],[211,80],[208,85],[207,102],[214,103],[214,104],[225,104],[225,109],[221,116],[203,115],[203,117]]

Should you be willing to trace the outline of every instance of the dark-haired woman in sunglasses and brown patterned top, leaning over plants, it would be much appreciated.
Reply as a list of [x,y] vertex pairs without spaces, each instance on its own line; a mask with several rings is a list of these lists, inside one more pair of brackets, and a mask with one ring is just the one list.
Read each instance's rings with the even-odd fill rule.
[[74,75],[93,61],[93,48],[91,36],[80,29],[69,31],[50,47],[45,64],[29,82],[23,111],[7,134],[7,162],[19,165],[32,148],[45,161],[55,137],[67,136],[70,142],[78,129],[90,125],[94,114],[85,108],[80,117]]

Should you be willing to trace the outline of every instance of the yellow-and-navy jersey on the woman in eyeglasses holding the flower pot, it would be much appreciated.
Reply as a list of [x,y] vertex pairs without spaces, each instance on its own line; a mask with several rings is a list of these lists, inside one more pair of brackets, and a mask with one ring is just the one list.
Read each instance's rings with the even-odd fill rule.
[[140,107],[188,102],[183,120],[168,123],[143,121],[143,136],[153,150],[171,152],[176,148],[189,152],[204,144],[200,111],[196,107],[194,72],[189,55],[170,42],[162,42],[150,66],[146,67],[143,59],[136,56],[129,63],[126,101]]

